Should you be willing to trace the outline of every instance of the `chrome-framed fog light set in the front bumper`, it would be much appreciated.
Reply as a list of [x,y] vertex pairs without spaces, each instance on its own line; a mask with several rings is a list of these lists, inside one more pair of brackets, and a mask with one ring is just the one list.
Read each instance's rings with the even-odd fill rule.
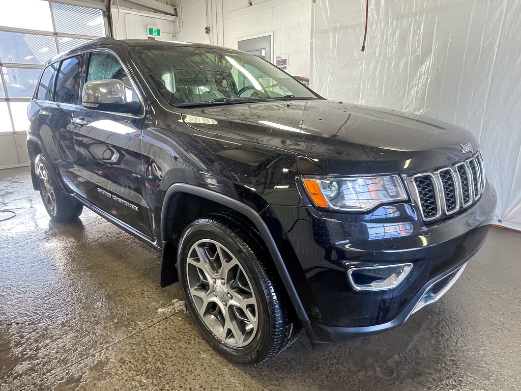
[[412,263],[353,267],[348,271],[348,278],[356,290],[386,290],[400,285],[412,268]]

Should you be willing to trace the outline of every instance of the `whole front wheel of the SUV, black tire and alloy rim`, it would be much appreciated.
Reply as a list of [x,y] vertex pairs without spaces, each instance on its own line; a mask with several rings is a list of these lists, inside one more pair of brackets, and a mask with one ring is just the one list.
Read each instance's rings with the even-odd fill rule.
[[300,328],[262,248],[246,232],[220,216],[193,222],[181,237],[177,270],[187,308],[210,346],[234,363],[258,365]]

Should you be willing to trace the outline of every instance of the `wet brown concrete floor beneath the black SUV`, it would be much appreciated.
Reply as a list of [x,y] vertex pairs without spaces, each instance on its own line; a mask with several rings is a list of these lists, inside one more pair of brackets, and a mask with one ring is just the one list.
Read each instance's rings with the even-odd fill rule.
[[[0,390],[520,390],[519,233],[494,228],[438,303],[326,351],[304,335],[260,368],[211,350],[188,314],[159,315],[159,255],[85,210],[49,221],[28,169],[0,170]],[[0,219],[7,214],[0,213]]]

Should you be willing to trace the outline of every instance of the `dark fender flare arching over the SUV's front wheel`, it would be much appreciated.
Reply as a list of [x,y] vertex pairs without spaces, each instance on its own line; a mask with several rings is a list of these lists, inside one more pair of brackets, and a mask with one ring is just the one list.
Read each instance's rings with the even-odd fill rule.
[[[264,241],[268,251],[273,259],[275,266],[277,267],[277,272],[279,273],[280,279],[286,288],[286,292],[288,294],[289,299],[293,305],[293,308],[296,312],[296,315],[299,317],[299,320],[302,322],[305,327],[306,324],[309,323],[309,317],[307,316],[306,311],[304,310],[304,306],[302,305],[302,301],[300,300],[299,295],[295,290],[295,286],[291,280],[291,277],[288,273],[288,269],[282,260],[282,256],[277,248],[275,240],[271,236],[271,233],[264,223],[261,216],[255,212],[250,206],[243,204],[240,201],[234,200],[233,198],[224,196],[223,194],[216,193],[215,191],[204,189],[201,187],[177,183],[171,185],[166,191],[165,199],[163,201],[163,209],[161,211],[161,237],[163,241],[163,254],[161,259],[161,286],[169,285],[168,281],[171,279],[171,273],[175,272],[175,262],[172,262],[172,257],[176,256],[177,258],[177,249],[173,249],[173,245],[169,243],[168,238],[166,238],[166,214],[168,210],[168,203],[170,202],[171,197],[175,193],[188,193],[193,196],[201,197],[207,199],[209,201],[216,202],[218,204],[224,205],[235,212],[240,213],[244,217],[248,218],[257,228],[259,234],[261,234],[261,239]],[[168,259],[166,259],[168,258]]]

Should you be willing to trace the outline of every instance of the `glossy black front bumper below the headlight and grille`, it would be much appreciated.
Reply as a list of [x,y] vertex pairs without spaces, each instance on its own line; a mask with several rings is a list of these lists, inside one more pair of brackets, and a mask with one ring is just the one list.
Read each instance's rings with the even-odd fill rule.
[[[443,285],[436,283],[461,270],[479,250],[495,203],[495,191],[487,185],[474,205],[429,225],[411,203],[380,206],[367,214],[270,205],[262,217],[306,311],[308,319],[302,321],[316,346],[405,322],[433,284]],[[352,267],[405,262],[413,268],[392,289],[357,291],[347,278]]]

